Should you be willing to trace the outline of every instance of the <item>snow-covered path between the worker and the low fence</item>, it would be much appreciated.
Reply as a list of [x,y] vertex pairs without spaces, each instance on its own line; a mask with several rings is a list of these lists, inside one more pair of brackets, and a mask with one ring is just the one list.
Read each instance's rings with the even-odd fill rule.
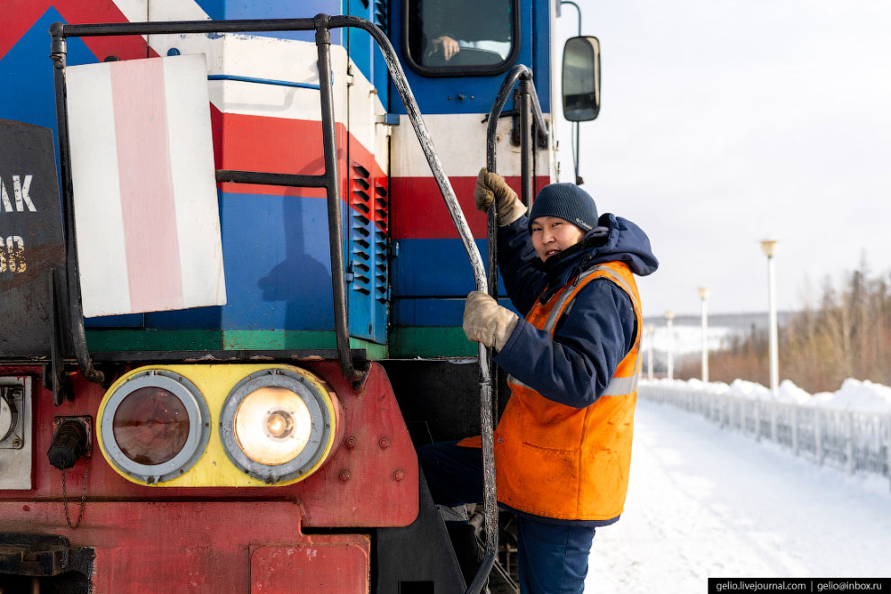
[[628,500],[586,592],[705,592],[709,577],[891,576],[886,478],[851,476],[638,401]]

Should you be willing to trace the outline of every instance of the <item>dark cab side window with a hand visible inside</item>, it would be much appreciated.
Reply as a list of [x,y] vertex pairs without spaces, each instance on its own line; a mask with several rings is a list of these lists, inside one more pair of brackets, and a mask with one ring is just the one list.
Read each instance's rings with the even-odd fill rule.
[[519,50],[517,0],[408,0],[405,27],[405,54],[422,74],[497,74]]

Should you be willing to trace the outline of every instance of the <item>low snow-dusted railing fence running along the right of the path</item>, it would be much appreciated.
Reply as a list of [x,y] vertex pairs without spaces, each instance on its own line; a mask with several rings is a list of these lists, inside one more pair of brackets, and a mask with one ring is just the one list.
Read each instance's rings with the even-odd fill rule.
[[891,481],[891,414],[745,398],[679,383],[644,382],[638,395],[768,439],[816,464]]

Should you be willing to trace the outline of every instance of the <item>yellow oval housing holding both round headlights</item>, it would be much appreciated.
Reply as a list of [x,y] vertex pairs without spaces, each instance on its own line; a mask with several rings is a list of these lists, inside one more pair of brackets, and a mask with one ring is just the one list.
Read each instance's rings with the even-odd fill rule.
[[293,365],[153,365],[112,384],[98,438],[131,482],[284,485],[325,463],[340,417],[328,384]]

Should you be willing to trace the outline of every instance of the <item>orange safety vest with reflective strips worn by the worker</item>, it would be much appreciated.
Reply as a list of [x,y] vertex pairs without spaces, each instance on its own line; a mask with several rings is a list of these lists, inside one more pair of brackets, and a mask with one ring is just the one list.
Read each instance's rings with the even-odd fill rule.
[[[625,506],[643,320],[634,275],[622,262],[593,266],[544,305],[536,302],[526,320],[553,337],[557,320],[575,296],[598,278],[607,278],[631,297],[635,345],[600,398],[583,409],[549,401],[508,377],[510,399],[495,430],[495,472],[498,500],[513,509],[545,518],[608,520]],[[479,443],[477,437],[460,445]]]

